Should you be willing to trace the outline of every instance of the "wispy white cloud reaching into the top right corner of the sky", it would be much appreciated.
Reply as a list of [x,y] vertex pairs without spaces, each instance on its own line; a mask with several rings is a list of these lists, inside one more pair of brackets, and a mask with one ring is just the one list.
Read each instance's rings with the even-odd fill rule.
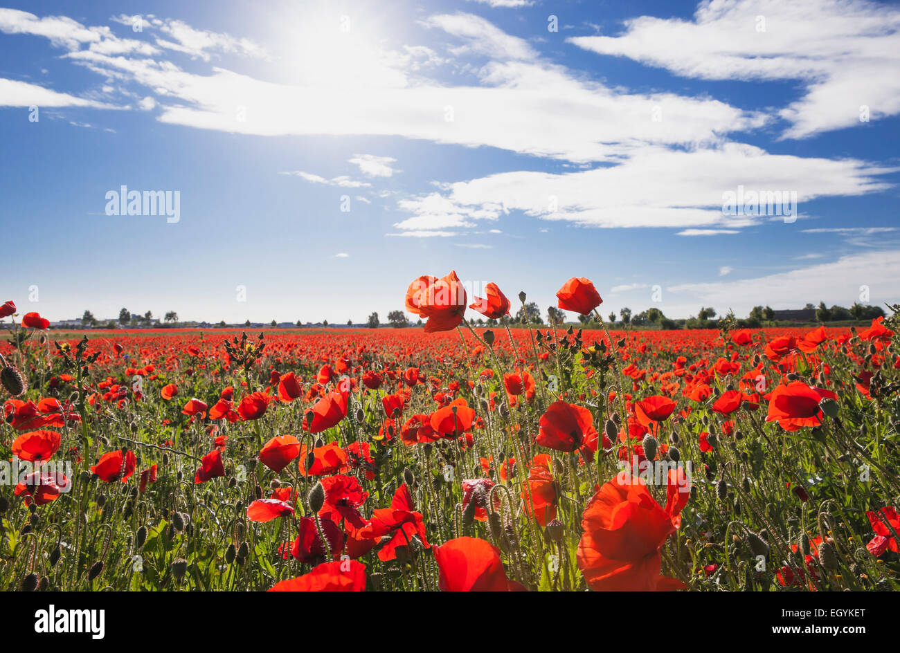
[[806,94],[779,111],[787,138],[900,113],[900,10],[866,0],[715,0],[694,20],[642,16],[620,36],[569,41],[702,79],[797,79]]

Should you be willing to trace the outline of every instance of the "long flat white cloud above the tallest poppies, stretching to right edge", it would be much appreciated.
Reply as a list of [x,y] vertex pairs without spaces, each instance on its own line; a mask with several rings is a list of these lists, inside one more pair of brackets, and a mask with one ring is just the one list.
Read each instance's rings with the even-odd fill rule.
[[690,228],[680,236],[738,233],[764,216],[723,213],[723,193],[748,188],[795,191],[799,203],[890,187],[892,168],[854,159],[771,155],[727,143],[694,151],[644,147],[621,164],[572,173],[511,172],[446,183],[442,192],[400,201],[416,218],[398,228],[462,226],[518,210],[527,216],[600,228]]

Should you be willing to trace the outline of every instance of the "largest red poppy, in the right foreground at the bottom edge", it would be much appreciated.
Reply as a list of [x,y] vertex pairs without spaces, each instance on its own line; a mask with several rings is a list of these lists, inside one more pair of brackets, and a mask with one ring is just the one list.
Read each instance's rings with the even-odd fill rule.
[[[683,479],[683,478],[682,478]],[[617,475],[605,483],[584,509],[584,533],[578,566],[594,590],[653,591],[681,589],[680,580],[660,574],[660,548],[675,532],[678,515],[690,496],[670,472],[669,500],[663,509],[644,485]]]

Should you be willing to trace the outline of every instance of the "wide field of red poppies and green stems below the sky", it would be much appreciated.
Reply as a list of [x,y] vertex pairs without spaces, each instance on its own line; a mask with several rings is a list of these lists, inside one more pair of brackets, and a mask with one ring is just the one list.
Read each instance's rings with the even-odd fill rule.
[[63,338],[8,301],[0,580],[900,589],[896,312],[609,330],[602,290],[563,283],[579,326],[476,326],[525,293],[449,273],[410,283],[420,328]]

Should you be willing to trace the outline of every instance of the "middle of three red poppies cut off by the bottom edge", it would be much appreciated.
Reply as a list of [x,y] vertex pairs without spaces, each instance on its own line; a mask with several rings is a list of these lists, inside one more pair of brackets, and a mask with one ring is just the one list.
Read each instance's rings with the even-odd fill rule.
[[509,580],[500,550],[477,537],[458,537],[435,547],[437,584],[442,592],[524,592]]

